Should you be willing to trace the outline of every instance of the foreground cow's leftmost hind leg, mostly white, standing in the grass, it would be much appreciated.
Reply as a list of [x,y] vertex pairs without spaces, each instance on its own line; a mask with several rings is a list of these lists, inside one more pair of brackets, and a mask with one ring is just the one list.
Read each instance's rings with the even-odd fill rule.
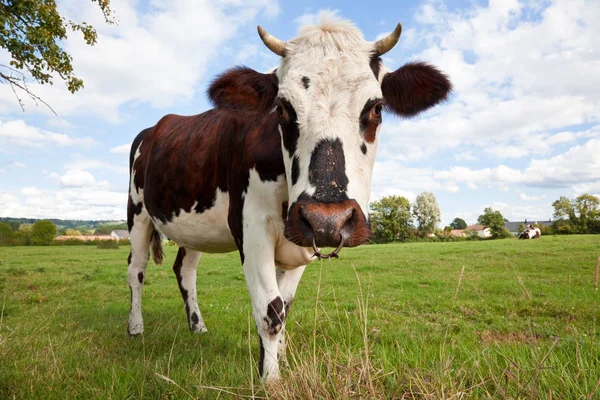
[[148,255],[150,250],[150,238],[153,226],[150,217],[145,210],[133,219],[130,229],[131,252],[129,253],[129,268],[127,270],[127,282],[131,291],[131,309],[129,311],[129,323],[127,332],[130,336],[144,333],[144,320],[142,318],[142,288],[148,266]]

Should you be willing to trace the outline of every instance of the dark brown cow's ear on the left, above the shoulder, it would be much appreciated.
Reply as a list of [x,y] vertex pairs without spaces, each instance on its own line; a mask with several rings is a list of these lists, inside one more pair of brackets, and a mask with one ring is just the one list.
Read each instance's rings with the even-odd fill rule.
[[207,94],[215,107],[269,111],[277,88],[275,72],[261,74],[251,68],[234,67],[218,76]]

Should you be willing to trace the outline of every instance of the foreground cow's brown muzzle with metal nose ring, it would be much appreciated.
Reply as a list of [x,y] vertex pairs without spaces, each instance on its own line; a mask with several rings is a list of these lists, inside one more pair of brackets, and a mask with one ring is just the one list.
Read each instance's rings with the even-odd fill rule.
[[[318,258],[337,257],[342,247],[359,246],[371,237],[371,229],[355,200],[320,203],[299,200],[290,207],[285,237],[291,242],[313,247]],[[335,247],[323,255],[319,247]]]

